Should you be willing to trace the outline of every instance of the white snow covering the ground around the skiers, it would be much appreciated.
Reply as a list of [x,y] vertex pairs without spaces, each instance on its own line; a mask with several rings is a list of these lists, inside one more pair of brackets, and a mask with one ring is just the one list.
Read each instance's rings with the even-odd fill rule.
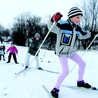
[[[6,49],[10,44],[6,44]],[[50,73],[46,71],[30,69],[24,74],[16,76],[15,73],[24,69],[22,64],[25,61],[27,54],[27,47],[16,46],[18,48],[17,59],[19,64],[15,64],[13,58],[9,64],[7,64],[8,53],[5,54],[6,61],[0,61],[0,98],[50,98],[47,92],[44,90],[43,85],[51,91],[54,87],[56,80],[59,76],[57,73]],[[78,51],[79,55],[86,61],[86,71],[84,80],[93,86],[98,87],[98,51]],[[84,55],[83,55],[84,54]],[[32,61],[34,57],[31,57],[32,64],[30,67],[36,67],[35,61]],[[54,54],[54,51],[45,49],[40,50],[40,67],[60,73],[61,66],[58,57]],[[69,60],[70,73],[63,81],[60,88],[60,98],[98,98],[98,91],[87,90],[84,88],[71,89],[67,86],[76,86],[78,76],[78,66],[71,60]]]

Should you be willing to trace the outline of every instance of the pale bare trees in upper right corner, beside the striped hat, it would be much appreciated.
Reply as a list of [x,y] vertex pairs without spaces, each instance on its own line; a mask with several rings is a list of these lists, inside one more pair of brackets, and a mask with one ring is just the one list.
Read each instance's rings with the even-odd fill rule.
[[84,12],[83,27],[94,31],[98,27],[98,0],[82,0]]

